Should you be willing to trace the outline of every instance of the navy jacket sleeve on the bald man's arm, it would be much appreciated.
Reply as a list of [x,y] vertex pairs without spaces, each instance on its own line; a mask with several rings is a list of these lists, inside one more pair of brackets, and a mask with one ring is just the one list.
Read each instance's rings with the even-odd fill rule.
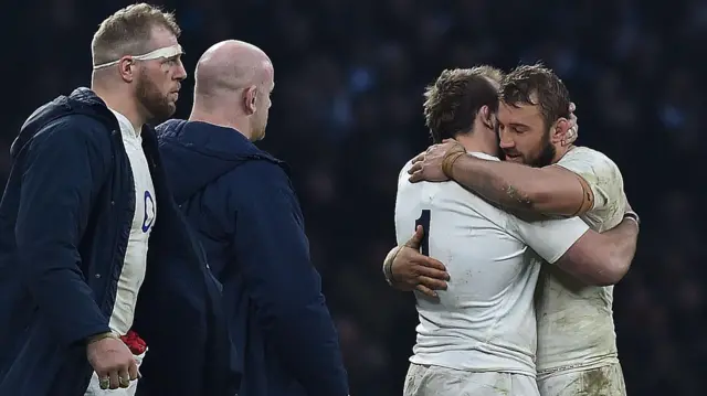
[[338,334],[289,179],[268,161],[249,161],[239,173],[236,257],[267,341],[307,395],[346,396]]

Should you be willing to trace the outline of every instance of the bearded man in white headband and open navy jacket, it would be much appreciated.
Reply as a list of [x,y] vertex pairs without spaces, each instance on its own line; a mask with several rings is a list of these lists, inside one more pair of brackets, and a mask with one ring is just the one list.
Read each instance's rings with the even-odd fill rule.
[[234,393],[219,285],[145,125],[175,111],[178,35],[159,9],[117,11],[92,43],[92,89],[40,107],[12,145],[0,203],[2,396]]

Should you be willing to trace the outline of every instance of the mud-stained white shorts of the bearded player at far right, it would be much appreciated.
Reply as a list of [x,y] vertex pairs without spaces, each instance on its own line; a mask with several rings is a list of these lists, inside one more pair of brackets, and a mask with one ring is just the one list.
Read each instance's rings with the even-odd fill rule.
[[626,396],[620,363],[577,372],[556,372],[538,375],[542,396]]

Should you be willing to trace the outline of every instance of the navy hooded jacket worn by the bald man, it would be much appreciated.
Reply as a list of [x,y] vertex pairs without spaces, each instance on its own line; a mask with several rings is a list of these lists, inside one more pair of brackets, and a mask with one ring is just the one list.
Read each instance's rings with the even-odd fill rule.
[[239,396],[346,396],[338,335],[287,169],[234,129],[157,127],[175,199],[223,285]]

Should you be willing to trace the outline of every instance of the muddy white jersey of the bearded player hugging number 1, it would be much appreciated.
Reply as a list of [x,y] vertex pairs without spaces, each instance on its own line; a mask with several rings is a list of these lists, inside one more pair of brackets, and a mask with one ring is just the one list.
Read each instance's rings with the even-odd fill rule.
[[[626,197],[619,167],[603,153],[576,147],[557,163],[582,176],[594,206],[581,218],[597,232],[623,220]],[[613,321],[613,286],[585,286],[557,267],[540,275],[537,299],[538,374],[587,370],[619,362]]]

